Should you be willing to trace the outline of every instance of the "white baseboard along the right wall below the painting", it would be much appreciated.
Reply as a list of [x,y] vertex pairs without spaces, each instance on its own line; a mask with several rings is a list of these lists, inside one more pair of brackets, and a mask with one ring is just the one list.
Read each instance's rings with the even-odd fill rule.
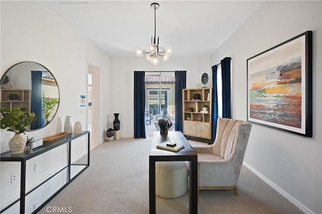
[[251,165],[246,163],[245,161],[243,164],[251,170],[254,174],[256,174],[258,177],[260,177],[262,180],[264,180],[268,185],[270,185],[273,189],[278,191],[281,195],[283,195],[286,199],[291,201],[295,206],[297,206],[300,210],[302,210],[304,213],[314,213],[312,210],[307,208],[304,204],[302,204],[300,201],[296,200],[292,195],[288,194],[286,191],[284,191],[281,187],[276,185],[274,182],[272,182],[270,179],[265,177],[263,174],[261,174],[259,171],[257,171],[255,168],[253,168]]

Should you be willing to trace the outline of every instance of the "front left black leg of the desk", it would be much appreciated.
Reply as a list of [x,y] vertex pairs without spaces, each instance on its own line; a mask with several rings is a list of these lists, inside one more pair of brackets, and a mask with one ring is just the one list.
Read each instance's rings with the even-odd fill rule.
[[155,161],[149,156],[149,209],[155,213]]

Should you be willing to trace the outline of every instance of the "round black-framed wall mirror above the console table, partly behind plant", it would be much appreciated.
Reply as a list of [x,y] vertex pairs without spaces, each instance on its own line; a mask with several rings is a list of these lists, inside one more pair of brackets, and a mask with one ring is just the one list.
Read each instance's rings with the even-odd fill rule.
[[59,105],[59,88],[52,73],[37,62],[20,62],[1,77],[1,105],[25,114],[33,112],[36,121],[26,131],[47,126]]

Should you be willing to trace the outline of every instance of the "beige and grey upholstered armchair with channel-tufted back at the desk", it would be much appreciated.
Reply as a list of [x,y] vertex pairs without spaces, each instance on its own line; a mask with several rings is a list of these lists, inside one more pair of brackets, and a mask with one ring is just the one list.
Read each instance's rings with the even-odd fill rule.
[[236,183],[251,133],[252,124],[218,118],[215,142],[193,147],[198,155],[198,195],[201,189],[232,189]]

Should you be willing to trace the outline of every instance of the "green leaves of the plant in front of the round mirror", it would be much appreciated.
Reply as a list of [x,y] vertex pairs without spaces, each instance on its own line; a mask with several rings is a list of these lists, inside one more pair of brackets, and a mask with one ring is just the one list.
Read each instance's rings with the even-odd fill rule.
[[26,127],[29,127],[35,120],[34,113],[25,114],[20,108],[15,108],[12,111],[0,106],[1,109],[1,129],[7,129],[15,134],[24,133]]

